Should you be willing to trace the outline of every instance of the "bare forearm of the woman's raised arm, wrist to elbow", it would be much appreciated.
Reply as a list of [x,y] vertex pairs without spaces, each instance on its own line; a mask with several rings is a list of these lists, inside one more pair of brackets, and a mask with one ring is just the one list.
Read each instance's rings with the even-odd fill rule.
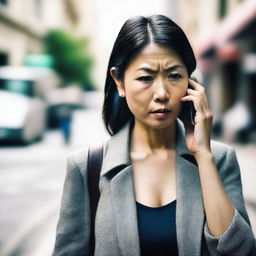
[[224,233],[232,222],[235,209],[230,201],[210,152],[195,156],[199,169],[207,225],[212,236]]

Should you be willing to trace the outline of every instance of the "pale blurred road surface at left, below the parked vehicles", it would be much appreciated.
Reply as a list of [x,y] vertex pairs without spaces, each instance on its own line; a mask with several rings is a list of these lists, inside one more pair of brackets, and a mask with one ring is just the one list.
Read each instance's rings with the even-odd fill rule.
[[0,255],[49,255],[69,151],[60,135],[0,149]]

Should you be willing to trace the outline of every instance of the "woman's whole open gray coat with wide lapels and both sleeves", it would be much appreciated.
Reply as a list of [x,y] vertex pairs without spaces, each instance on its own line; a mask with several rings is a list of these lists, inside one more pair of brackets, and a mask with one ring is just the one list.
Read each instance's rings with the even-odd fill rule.
[[[256,255],[234,150],[220,142],[211,142],[219,175],[236,208],[229,228],[215,238],[210,235],[205,220],[196,161],[186,147],[183,123],[177,120],[176,124],[176,228],[179,255]],[[104,145],[101,196],[95,221],[97,256],[140,255],[133,172],[129,158],[130,130],[130,124],[127,124]],[[90,207],[86,166],[87,149],[78,150],[68,158],[54,256],[88,255]]]

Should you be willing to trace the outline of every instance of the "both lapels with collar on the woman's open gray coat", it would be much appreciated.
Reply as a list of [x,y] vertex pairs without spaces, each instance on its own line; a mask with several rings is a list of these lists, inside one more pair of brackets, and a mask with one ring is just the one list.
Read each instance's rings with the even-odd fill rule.
[[[176,229],[179,255],[199,256],[204,208],[198,168],[185,144],[183,123],[176,123]],[[131,124],[106,145],[101,176],[109,177],[118,245],[123,255],[139,256],[139,235],[133,173],[129,158]],[[105,180],[105,179],[104,179]]]

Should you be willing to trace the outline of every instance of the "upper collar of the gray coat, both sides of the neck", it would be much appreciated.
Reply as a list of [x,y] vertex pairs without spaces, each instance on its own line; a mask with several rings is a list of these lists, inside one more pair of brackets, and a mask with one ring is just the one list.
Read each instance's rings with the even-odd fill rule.
[[[106,144],[102,163],[101,176],[118,167],[131,164],[130,133],[132,122],[128,122],[118,133],[113,135]],[[176,153],[195,164],[193,154],[188,150],[185,143],[185,129],[182,121],[176,121]]]

